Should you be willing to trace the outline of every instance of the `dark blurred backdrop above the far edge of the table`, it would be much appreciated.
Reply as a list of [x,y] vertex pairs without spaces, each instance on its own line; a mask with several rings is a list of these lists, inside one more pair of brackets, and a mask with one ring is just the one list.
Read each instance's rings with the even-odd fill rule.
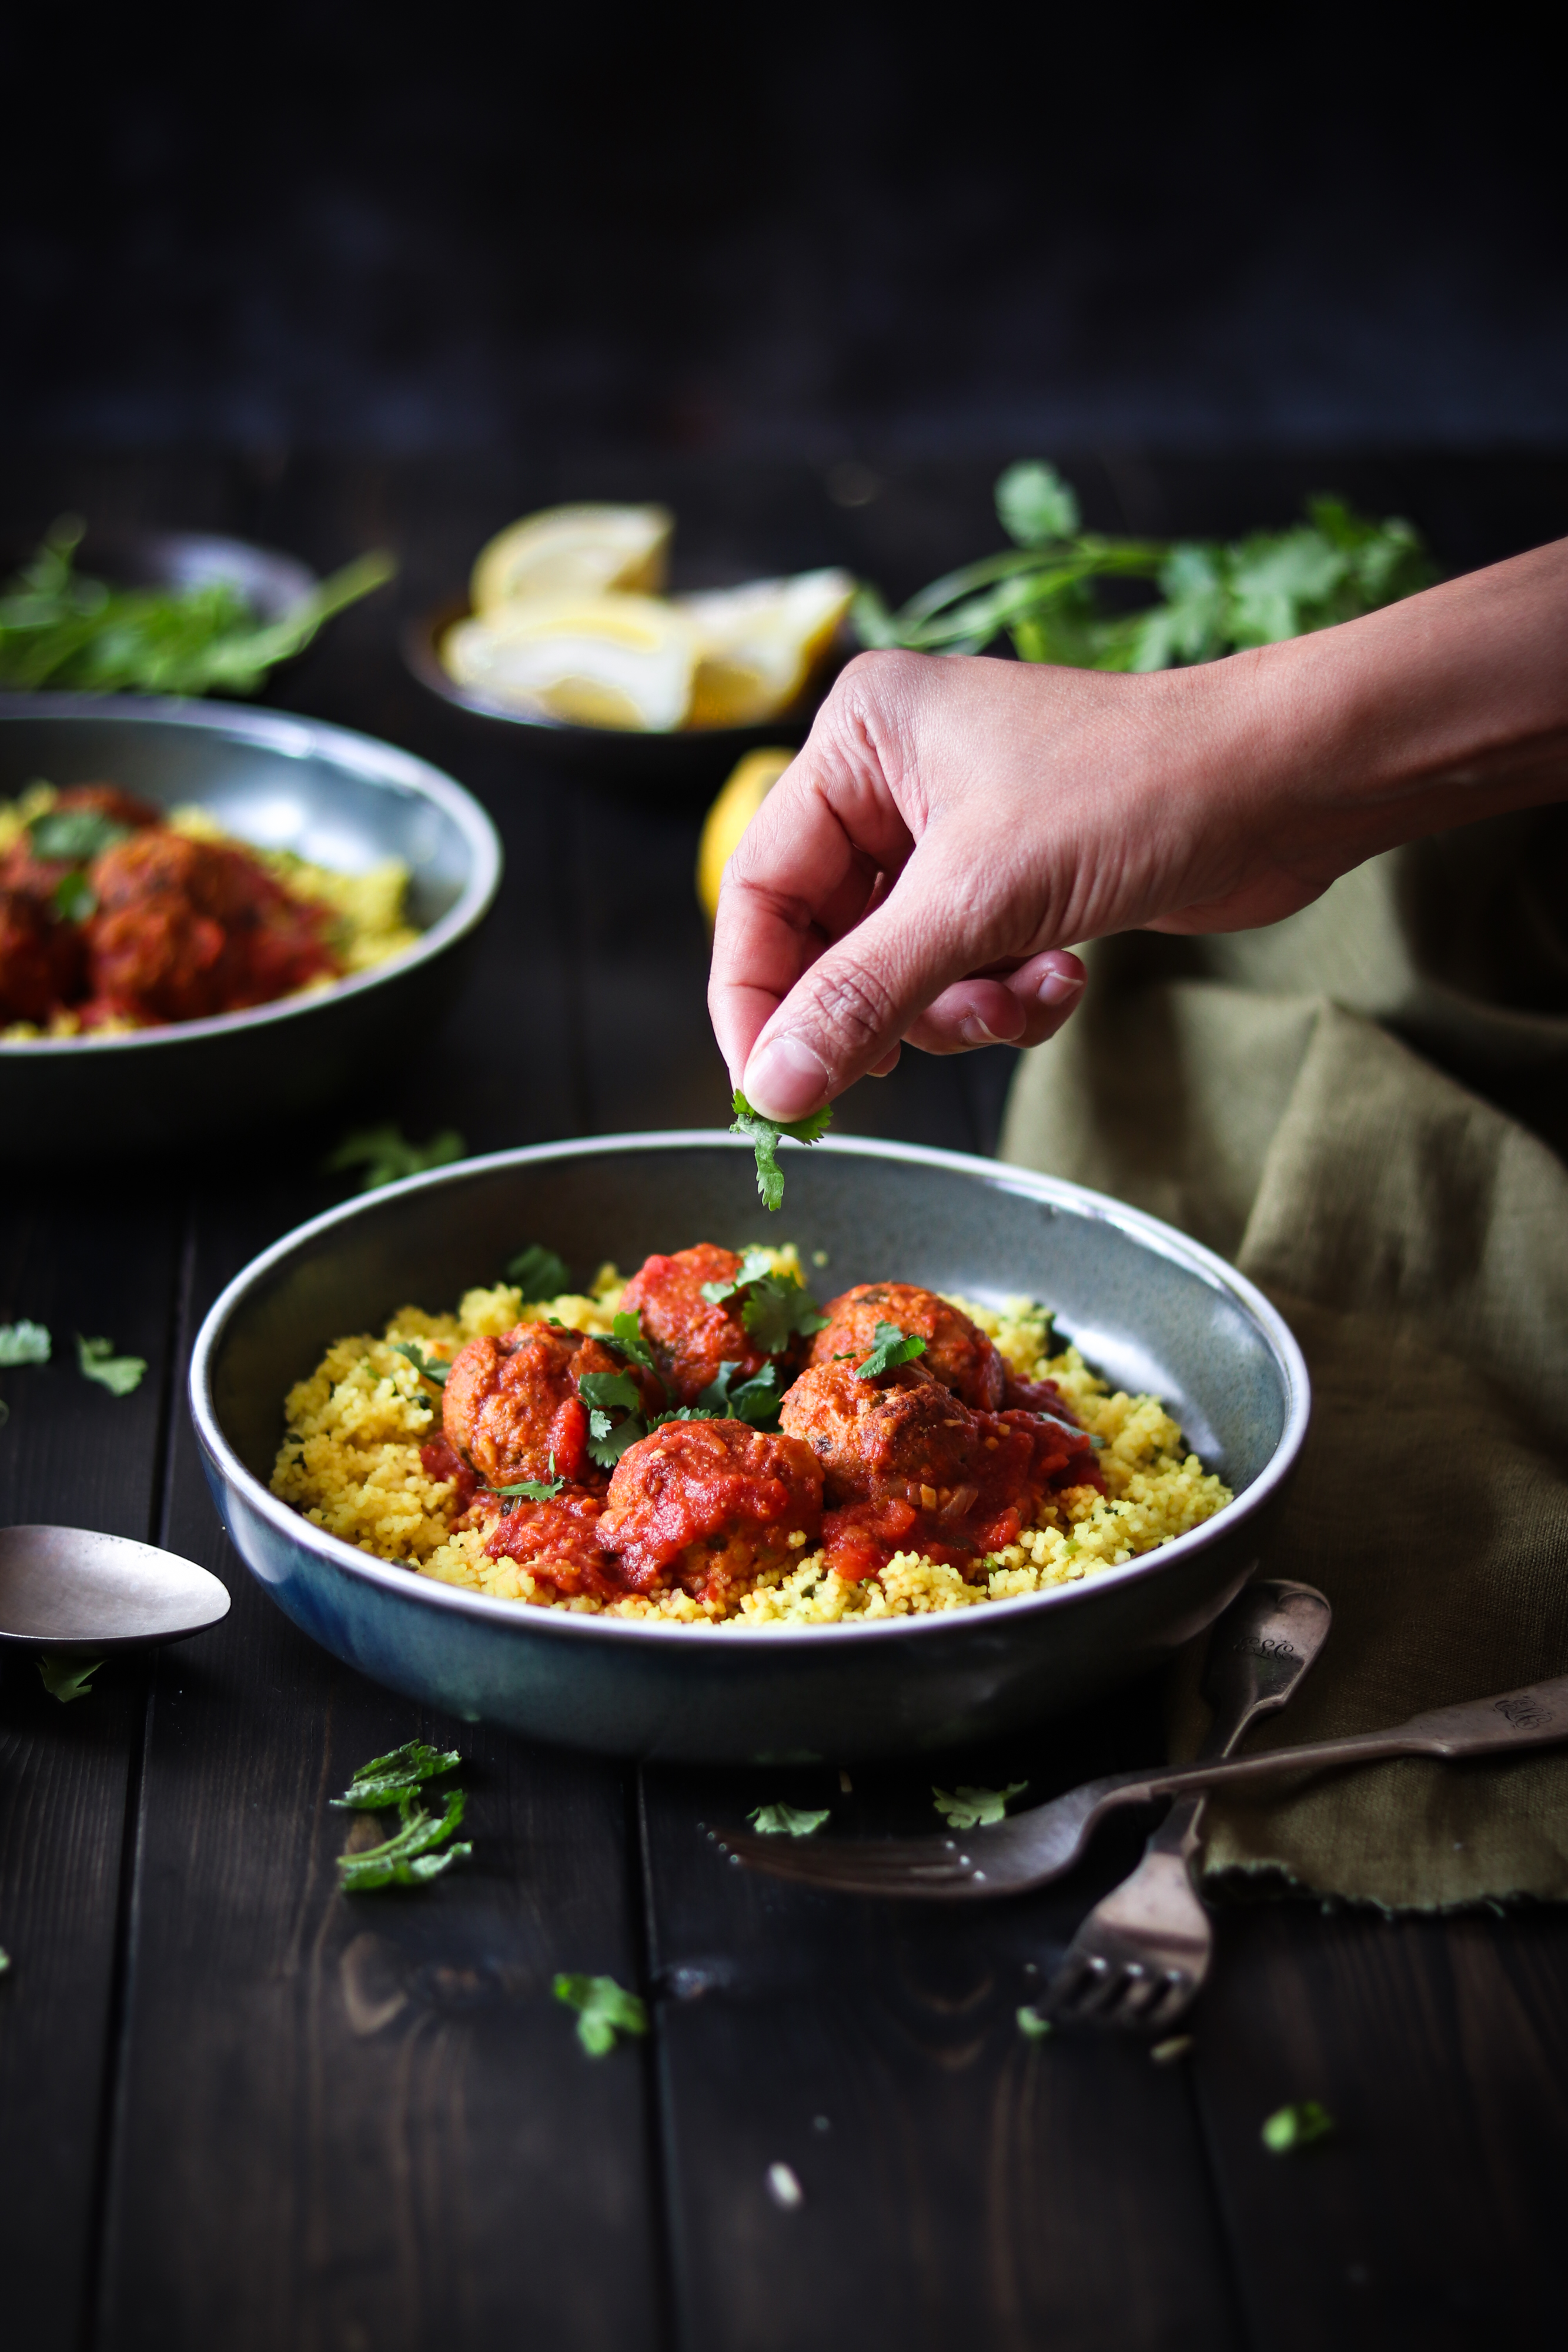
[[1552,61],[1368,19],[54,9],[9,33],[0,426],[567,470],[1556,445]]

